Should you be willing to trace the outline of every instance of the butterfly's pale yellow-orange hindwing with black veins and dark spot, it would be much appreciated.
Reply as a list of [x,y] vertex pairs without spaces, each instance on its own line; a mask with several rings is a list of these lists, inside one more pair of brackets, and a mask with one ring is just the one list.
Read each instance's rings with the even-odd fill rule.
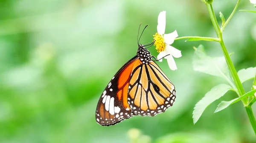
[[154,61],[134,67],[129,86],[128,104],[138,115],[165,112],[176,98],[175,86]]

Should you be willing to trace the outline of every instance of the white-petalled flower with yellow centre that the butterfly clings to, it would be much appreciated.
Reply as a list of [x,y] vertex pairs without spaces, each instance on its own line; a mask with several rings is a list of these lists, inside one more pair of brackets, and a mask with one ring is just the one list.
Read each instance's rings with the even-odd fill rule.
[[154,35],[154,45],[156,45],[157,52],[159,52],[157,59],[159,62],[162,62],[162,58],[164,57],[164,59],[167,59],[170,69],[177,70],[173,57],[181,57],[181,51],[171,46],[174,39],[178,36],[177,31],[164,34],[166,28],[166,11],[160,12],[157,22],[157,33]]

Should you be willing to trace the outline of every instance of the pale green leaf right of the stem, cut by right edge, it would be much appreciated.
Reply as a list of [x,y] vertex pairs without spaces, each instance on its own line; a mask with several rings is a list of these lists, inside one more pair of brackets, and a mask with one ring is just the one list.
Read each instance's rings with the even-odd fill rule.
[[249,67],[247,69],[241,69],[237,72],[241,83],[253,79],[256,73],[256,67]]

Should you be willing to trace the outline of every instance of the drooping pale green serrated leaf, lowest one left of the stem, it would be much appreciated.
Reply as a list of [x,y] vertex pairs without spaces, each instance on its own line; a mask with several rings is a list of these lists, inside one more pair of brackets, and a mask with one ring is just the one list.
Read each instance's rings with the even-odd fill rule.
[[232,90],[232,87],[227,84],[219,84],[213,87],[205,96],[195,104],[193,111],[193,122],[194,124],[201,117],[204,110],[215,100],[221,98],[227,91]]

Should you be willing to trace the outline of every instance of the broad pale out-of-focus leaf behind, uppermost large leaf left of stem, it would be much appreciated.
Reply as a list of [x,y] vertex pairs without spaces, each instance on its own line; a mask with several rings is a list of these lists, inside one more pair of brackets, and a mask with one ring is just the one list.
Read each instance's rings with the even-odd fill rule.
[[207,56],[203,45],[195,48],[192,64],[195,71],[221,77],[233,85],[224,56],[215,58]]

